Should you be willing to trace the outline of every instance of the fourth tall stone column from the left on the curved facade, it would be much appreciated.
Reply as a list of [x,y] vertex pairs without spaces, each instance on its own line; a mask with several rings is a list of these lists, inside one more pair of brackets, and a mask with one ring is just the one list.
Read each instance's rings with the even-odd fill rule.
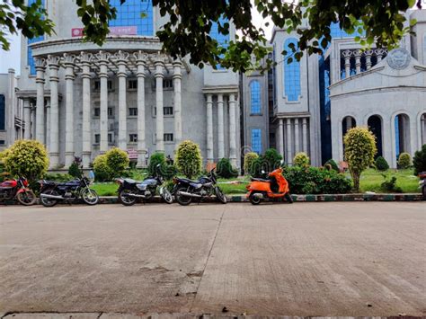
[[92,54],[82,52],[80,62],[82,64],[82,79],[83,79],[83,125],[82,125],[82,164],[84,168],[88,168],[92,155],[92,130],[90,128],[90,64]]

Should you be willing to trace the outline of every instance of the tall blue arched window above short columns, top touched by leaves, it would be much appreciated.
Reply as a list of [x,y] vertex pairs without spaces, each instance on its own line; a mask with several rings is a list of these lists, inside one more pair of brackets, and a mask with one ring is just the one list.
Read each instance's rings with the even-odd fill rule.
[[[300,62],[293,56],[293,50],[290,49],[289,44],[293,43],[297,46],[296,38],[288,38],[284,42],[284,49],[287,55],[284,57],[284,96],[287,96],[287,101],[297,101],[300,96]],[[288,64],[287,58],[292,57],[293,61]]]

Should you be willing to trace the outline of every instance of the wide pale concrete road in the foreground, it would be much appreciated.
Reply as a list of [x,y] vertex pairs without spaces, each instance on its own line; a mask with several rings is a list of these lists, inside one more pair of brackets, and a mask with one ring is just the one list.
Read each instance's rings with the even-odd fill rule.
[[426,315],[424,203],[0,207],[1,312]]

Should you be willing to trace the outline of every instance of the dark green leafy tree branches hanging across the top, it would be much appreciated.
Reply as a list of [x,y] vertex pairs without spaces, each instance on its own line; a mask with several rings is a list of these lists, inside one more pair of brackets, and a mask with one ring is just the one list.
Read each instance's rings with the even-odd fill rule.
[[[125,2],[120,0],[121,4]],[[6,0],[0,7],[0,26],[11,33],[21,30],[30,39],[52,33],[53,22],[40,8],[41,1],[30,7],[24,3],[24,0],[13,0],[15,10]],[[220,64],[244,72],[259,68],[260,61],[271,51],[262,27],[253,25],[251,0],[152,0],[152,3],[162,17],[169,17],[156,36],[163,42],[164,51],[173,58],[191,54],[190,62],[200,67],[206,63],[213,67]],[[422,0],[417,0],[419,8],[421,3]],[[117,9],[106,0],[76,0],[76,4],[77,15],[84,25],[84,40],[102,45],[109,32],[109,22],[117,17]],[[277,27],[288,33],[297,32],[299,41],[297,46],[290,48],[292,55],[288,63],[294,58],[300,59],[305,50],[308,54],[322,54],[331,40],[332,23],[338,23],[348,33],[365,34],[365,38],[355,38],[362,45],[370,46],[375,42],[377,47],[392,49],[408,31],[404,28],[404,12],[414,4],[416,0],[300,0],[297,4],[254,0],[254,8],[263,18],[271,18]],[[238,31],[235,40],[219,44],[209,33],[217,23],[219,33],[229,34],[229,21]],[[302,26],[303,21],[309,23],[309,28]],[[0,33],[0,40],[4,49],[8,49],[4,31]],[[254,66],[252,57],[256,58]],[[272,65],[271,59],[266,59],[266,65]]]

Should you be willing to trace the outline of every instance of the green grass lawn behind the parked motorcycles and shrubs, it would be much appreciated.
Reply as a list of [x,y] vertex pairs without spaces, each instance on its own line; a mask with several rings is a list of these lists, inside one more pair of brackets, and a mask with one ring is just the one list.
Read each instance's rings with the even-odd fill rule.
[[[392,176],[397,178],[396,186],[402,188],[404,192],[420,192],[418,189],[419,179],[413,175],[413,169],[408,170],[388,170],[384,174],[387,176],[387,180],[390,180]],[[347,173],[350,176],[349,173]],[[241,183],[233,184],[232,181],[239,181]],[[385,181],[382,173],[377,172],[374,169],[368,169],[361,174],[360,189],[361,192],[375,191],[377,193],[385,192],[381,190],[380,185]],[[234,179],[218,179],[220,189],[225,194],[245,194],[245,186],[250,182],[250,178],[247,176],[234,178]],[[97,191],[100,196],[116,196],[118,184],[114,182],[97,183],[92,185],[93,190]],[[290,189],[291,190],[291,189]]]

